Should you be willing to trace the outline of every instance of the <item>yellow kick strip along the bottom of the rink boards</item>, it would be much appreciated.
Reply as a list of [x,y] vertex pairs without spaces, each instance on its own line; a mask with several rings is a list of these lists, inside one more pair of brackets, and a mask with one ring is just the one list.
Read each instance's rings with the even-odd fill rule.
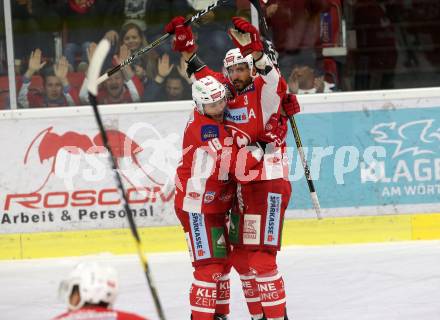
[[[147,253],[185,251],[181,227],[141,228]],[[440,237],[439,214],[286,220],[283,246],[432,240]],[[0,235],[0,260],[135,253],[128,229]]]

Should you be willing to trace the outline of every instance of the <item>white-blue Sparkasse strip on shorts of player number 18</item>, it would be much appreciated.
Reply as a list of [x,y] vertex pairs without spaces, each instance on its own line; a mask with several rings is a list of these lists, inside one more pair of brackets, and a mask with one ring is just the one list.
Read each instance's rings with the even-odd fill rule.
[[194,258],[196,260],[211,258],[208,235],[206,233],[205,216],[201,213],[190,212],[189,223],[193,239]]

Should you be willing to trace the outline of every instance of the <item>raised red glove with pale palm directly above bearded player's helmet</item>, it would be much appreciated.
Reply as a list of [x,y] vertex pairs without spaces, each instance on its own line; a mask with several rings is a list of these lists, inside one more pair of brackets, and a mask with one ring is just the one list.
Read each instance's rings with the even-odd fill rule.
[[243,57],[254,51],[263,51],[263,43],[257,28],[241,17],[233,17],[232,23],[234,28],[229,29],[228,34]]

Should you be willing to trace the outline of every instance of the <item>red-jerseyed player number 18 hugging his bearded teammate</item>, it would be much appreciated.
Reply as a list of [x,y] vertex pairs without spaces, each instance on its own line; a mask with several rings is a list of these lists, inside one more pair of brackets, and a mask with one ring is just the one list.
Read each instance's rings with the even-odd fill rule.
[[[229,313],[229,240],[226,228],[235,181],[252,180],[262,159],[258,146],[239,149],[224,127],[225,87],[211,76],[193,83],[195,109],[183,137],[176,175],[176,214],[183,226],[194,281],[190,290],[193,320],[226,319]],[[287,127],[264,131],[272,140]],[[255,176],[255,175],[254,175]]]

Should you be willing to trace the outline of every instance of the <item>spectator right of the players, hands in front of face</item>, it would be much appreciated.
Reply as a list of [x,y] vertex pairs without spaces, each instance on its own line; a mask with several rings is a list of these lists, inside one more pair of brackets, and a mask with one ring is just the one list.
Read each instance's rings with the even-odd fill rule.
[[288,78],[289,92],[294,94],[330,93],[334,84],[325,81],[324,75],[308,65],[294,65]]

